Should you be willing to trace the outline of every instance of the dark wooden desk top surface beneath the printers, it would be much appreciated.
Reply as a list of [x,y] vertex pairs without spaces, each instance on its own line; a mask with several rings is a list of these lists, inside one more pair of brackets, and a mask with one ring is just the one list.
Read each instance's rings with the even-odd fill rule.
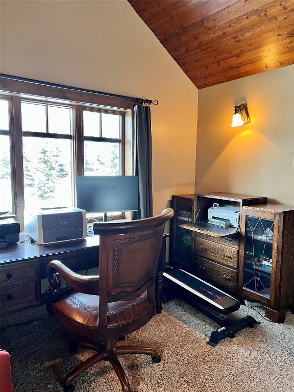
[[30,239],[31,238],[26,234],[20,234],[19,242],[10,244],[7,248],[0,249],[0,264],[99,246],[99,235],[91,235],[84,239],[50,243],[46,245],[31,243]]

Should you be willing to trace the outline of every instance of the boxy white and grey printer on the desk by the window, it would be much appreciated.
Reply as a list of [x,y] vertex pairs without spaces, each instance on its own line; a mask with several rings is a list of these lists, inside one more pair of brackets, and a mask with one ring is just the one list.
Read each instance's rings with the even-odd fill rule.
[[40,244],[85,238],[86,211],[76,207],[24,210],[24,232]]

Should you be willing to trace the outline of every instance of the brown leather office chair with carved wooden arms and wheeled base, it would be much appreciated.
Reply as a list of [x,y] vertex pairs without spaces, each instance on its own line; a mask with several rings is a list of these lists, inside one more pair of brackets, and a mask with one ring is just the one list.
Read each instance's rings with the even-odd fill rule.
[[[160,362],[154,348],[116,346],[116,343],[144,326],[155,314],[155,274],[163,229],[173,215],[174,211],[168,208],[152,218],[94,224],[94,233],[100,235],[99,276],[81,276],[60,261],[48,264],[48,312],[67,330],[93,341],[73,341],[71,352],[77,347],[95,351],[65,376],[65,392],[74,391],[72,380],[102,360],[112,364],[122,390],[131,392],[117,356],[148,354],[153,362]],[[60,276],[70,286],[61,294]]]

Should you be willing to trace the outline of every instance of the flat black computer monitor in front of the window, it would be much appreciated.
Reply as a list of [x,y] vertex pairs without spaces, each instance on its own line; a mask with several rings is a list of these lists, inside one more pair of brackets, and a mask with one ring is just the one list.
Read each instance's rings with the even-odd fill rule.
[[138,211],[138,176],[77,176],[77,207],[87,213]]

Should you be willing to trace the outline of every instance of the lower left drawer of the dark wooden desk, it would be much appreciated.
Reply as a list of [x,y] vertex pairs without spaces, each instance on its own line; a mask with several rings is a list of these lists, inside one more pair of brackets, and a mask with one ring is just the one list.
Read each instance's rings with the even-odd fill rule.
[[35,282],[16,284],[0,290],[1,309],[14,305],[35,305]]

